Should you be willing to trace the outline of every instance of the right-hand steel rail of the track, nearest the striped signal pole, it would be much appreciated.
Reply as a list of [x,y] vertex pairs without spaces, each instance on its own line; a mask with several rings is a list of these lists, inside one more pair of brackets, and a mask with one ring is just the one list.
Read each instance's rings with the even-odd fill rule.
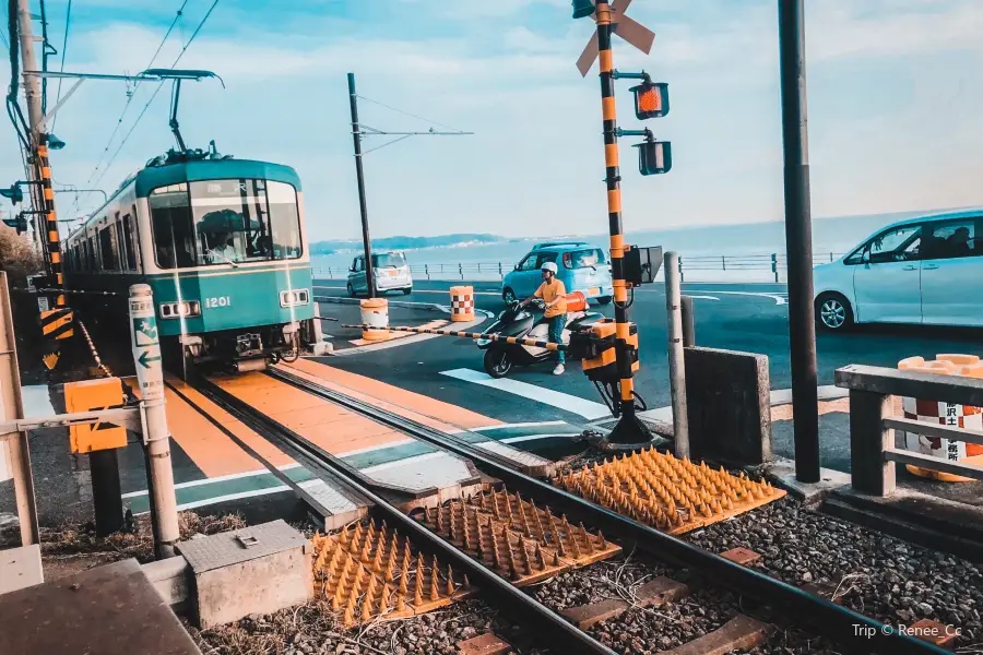
[[[729,586],[739,594],[746,594],[768,603],[782,612],[791,614],[814,626],[839,643],[861,653],[890,653],[891,655],[935,653],[947,651],[902,634],[893,626],[881,623],[862,614],[841,607],[819,596],[804,592],[781,580],[760,573],[754,569],[736,564],[718,555],[708,552],[661,533],[632,519],[623,516],[606,508],[573,496],[534,477],[505,466],[454,436],[424,426],[392,412],[381,409],[353,398],[343,393],[325,389],[308,381],[288,380],[282,371],[273,369],[268,374],[289,381],[324,400],[347,409],[363,414],[378,422],[398,429],[411,437],[427,441],[457,455],[467,457],[484,473],[494,476],[508,486],[542,500],[556,511],[582,519],[592,527],[603,529],[606,535],[624,543],[635,544],[640,550],[655,559],[668,560],[676,564],[697,569],[709,580]],[[863,635],[864,639],[857,635]]]

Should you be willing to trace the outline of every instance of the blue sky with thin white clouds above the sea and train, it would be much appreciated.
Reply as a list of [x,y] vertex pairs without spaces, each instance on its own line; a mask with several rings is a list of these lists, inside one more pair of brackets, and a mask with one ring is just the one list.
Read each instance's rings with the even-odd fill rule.
[[[189,0],[155,62],[169,66],[212,0]],[[983,204],[983,2],[807,0],[813,211],[816,216]],[[672,115],[647,121],[673,142],[674,169],[642,178],[621,145],[629,229],[782,217],[775,0],[636,0],[655,32],[651,55],[615,44],[620,70],[668,82]],[[180,0],[75,0],[67,70],[138,72]],[[48,1],[56,47],[64,2]],[[221,0],[180,62],[221,74],[185,86],[189,145],[297,168],[315,239],[358,234],[345,72],[368,98],[473,136],[413,138],[366,156],[376,236],[606,228],[596,68],[573,61],[591,34],[566,0]],[[0,44],[2,47],[2,44]],[[0,75],[8,76],[5,64]],[[57,67],[57,58],[54,60]],[[620,124],[638,127],[628,82]],[[122,134],[154,85],[135,90]],[[54,104],[55,86],[50,87]],[[86,82],[58,117],[69,145],[56,181],[111,191],[171,146],[165,87],[119,156],[93,176],[127,99],[122,83]],[[433,123],[364,103],[388,130]],[[380,138],[367,142],[370,147]],[[23,177],[12,128],[0,128],[0,180]],[[97,196],[58,195],[59,214]],[[9,209],[9,207],[5,207]]]

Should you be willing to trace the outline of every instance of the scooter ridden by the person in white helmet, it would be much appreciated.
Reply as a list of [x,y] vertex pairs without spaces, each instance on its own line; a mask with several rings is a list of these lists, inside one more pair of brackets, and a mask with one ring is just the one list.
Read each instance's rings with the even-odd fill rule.
[[[517,336],[534,341],[548,341],[549,323],[543,313],[545,303],[542,299],[533,300],[536,312],[529,311],[518,300],[508,302],[496,321],[484,332],[504,336]],[[587,311],[587,299],[583,294],[575,291],[567,295],[567,324],[564,327],[564,343],[570,343],[571,332],[585,332],[591,325],[604,318],[596,311]],[[477,340],[477,347],[485,350],[483,360],[485,372],[493,378],[505,378],[513,366],[531,366],[553,358],[553,352],[536,346],[507,344],[486,338]]]

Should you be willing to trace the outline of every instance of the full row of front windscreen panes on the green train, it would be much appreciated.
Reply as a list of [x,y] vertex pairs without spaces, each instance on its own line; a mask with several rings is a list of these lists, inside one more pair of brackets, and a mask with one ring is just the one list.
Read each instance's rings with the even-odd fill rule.
[[[158,193],[171,190],[173,205],[154,202]],[[175,184],[151,193],[151,213],[162,269],[238,265],[297,259],[301,253],[297,193],[283,182],[230,179]],[[176,261],[170,253],[178,243],[189,248],[187,257]]]

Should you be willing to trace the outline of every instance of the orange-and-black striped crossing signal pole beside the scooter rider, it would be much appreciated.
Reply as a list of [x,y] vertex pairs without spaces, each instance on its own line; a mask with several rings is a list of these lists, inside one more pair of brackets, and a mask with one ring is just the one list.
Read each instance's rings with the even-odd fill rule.
[[604,119],[604,163],[607,182],[607,221],[611,229],[611,273],[615,306],[619,415],[608,439],[617,443],[651,441],[652,433],[635,415],[635,381],[629,350],[628,284],[625,282],[625,237],[621,233],[621,187],[618,168],[618,121],[615,105],[615,70],[611,53],[612,15],[607,0],[596,0],[597,51],[601,64],[601,114]]

